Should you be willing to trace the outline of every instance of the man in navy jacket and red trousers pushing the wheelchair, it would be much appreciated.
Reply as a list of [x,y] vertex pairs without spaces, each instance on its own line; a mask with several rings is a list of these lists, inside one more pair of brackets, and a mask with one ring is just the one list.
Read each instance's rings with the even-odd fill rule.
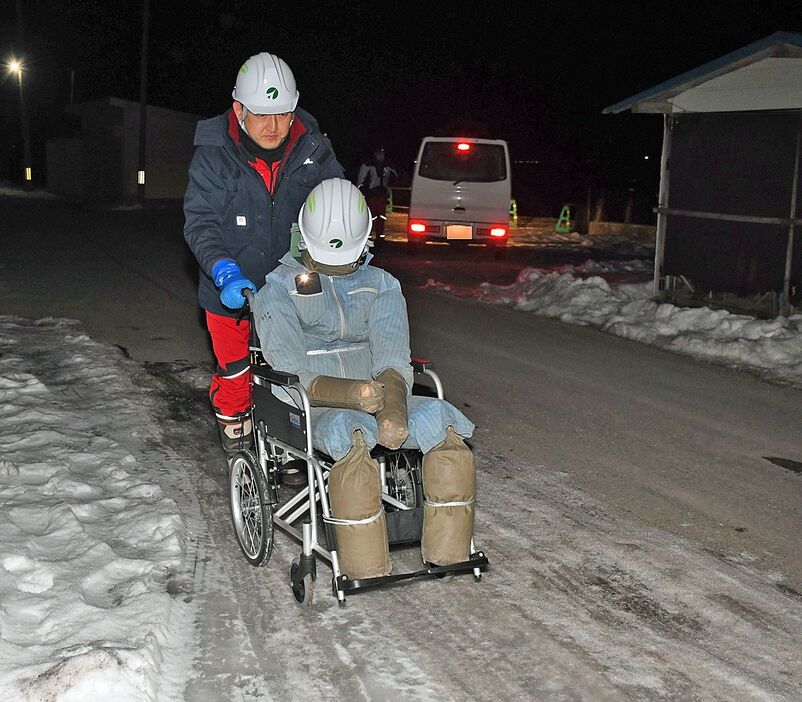
[[230,110],[198,123],[184,196],[184,238],[198,260],[198,300],[217,359],[209,399],[228,456],[253,443],[250,327],[237,322],[242,291],[261,288],[289,251],[309,192],[343,175],[278,56],[251,56],[231,95]]

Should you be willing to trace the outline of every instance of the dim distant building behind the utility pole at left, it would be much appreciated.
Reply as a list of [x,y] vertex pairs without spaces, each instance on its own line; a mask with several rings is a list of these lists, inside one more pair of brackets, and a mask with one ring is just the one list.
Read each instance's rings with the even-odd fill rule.
[[[80,132],[47,142],[47,189],[58,195],[101,202],[135,200],[139,103],[107,97],[67,109],[80,117]],[[148,105],[148,200],[183,198],[198,119],[196,115]]]

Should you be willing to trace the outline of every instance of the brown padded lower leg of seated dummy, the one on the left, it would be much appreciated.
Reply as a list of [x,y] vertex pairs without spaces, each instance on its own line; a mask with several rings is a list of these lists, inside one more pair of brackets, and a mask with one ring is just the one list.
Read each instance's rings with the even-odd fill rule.
[[340,571],[351,579],[389,575],[379,464],[370,457],[361,431],[354,432],[351,450],[331,467],[329,502]]

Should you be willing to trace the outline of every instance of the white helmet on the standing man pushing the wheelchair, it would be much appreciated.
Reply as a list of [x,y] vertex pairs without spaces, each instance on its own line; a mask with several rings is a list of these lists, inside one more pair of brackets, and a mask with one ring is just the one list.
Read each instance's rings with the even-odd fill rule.
[[257,115],[293,112],[298,104],[295,76],[290,67],[283,59],[268,53],[251,56],[242,64],[231,97]]

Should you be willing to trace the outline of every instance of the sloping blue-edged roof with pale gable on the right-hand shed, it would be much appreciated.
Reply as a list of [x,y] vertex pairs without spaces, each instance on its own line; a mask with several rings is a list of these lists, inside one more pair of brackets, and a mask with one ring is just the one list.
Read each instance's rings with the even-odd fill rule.
[[604,108],[632,112],[802,109],[802,34],[775,32]]

